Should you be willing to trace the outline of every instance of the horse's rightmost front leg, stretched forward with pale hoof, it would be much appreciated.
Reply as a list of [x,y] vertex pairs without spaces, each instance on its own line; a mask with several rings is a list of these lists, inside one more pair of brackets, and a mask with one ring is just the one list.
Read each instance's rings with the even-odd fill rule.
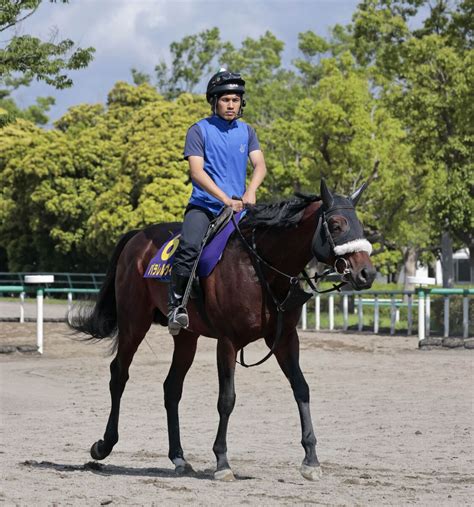
[[298,333],[294,329],[288,335],[287,340],[277,348],[275,356],[280,368],[290,381],[300,413],[301,444],[305,451],[300,472],[305,479],[314,481],[321,477],[321,466],[316,456],[316,436],[311,421],[309,387],[300,369],[299,350]]

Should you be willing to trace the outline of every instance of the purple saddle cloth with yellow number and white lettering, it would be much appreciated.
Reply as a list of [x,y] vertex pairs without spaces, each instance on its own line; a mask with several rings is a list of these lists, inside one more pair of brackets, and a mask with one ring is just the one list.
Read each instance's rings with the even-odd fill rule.
[[[244,215],[245,210],[236,213],[234,215],[235,221],[238,223]],[[230,220],[230,222],[204,247],[196,271],[198,276],[209,276],[212,273],[212,270],[222,257],[227,241],[234,230],[234,222]],[[163,244],[149,262],[145,274],[143,275],[144,278],[156,278],[161,281],[170,280],[174,254],[178,248],[180,237],[181,234],[175,234]]]

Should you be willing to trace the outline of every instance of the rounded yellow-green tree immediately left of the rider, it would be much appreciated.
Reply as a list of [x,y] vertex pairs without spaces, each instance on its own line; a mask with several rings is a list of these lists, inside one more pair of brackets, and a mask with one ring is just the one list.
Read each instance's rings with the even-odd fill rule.
[[167,101],[156,95],[117,130],[114,141],[123,146],[123,155],[88,220],[90,252],[108,253],[131,228],[181,220],[190,193],[184,138],[193,121],[207,112],[202,97],[182,94]]

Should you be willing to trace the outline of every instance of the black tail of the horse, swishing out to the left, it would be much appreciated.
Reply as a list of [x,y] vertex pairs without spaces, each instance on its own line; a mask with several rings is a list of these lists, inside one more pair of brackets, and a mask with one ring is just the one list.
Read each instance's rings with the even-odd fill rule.
[[74,315],[68,315],[69,326],[79,333],[89,335],[90,339],[113,338],[117,335],[117,305],[115,297],[115,275],[117,263],[125,245],[139,231],[124,234],[112,253],[104,283],[100,288],[93,307],[79,306]]

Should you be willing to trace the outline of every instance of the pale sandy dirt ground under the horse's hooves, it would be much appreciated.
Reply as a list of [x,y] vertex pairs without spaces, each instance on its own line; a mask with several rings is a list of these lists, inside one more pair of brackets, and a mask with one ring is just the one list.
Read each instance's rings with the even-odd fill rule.
[[[323,477],[308,482],[299,417],[272,358],[236,374],[228,447],[236,481],[213,480],[215,341],[201,338],[180,405],[185,455],[167,458],[162,383],[172,341],[155,326],[140,347],[122,403],[120,441],[100,465],[89,455],[109,410],[109,342],[78,343],[45,324],[45,354],[0,354],[5,505],[464,505],[474,497],[473,359],[423,350],[416,338],[302,333]],[[35,324],[0,323],[0,345],[34,345]],[[265,352],[252,344],[247,361]]]

